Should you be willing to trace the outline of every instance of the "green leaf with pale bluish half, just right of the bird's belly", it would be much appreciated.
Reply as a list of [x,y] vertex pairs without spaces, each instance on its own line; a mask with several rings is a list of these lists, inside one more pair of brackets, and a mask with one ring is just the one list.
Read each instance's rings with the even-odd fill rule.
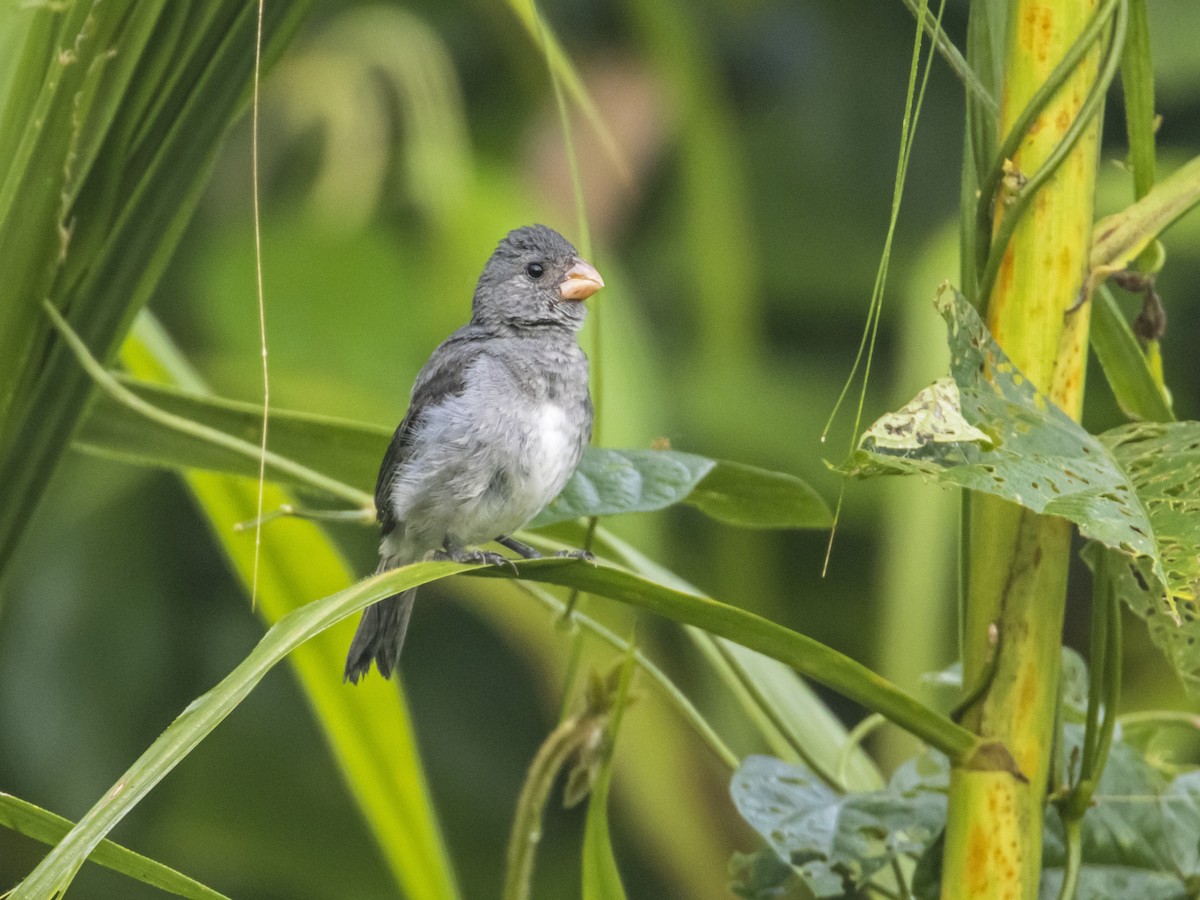
[[829,509],[800,479],[676,450],[589,448],[566,487],[530,528],[688,503],[730,524],[820,528]]

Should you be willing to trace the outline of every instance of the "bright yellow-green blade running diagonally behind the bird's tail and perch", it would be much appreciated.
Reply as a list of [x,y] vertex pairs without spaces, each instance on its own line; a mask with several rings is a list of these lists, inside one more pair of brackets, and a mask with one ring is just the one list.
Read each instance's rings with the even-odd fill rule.
[[[143,318],[137,337],[122,352],[132,371],[203,390],[152,318]],[[192,470],[184,479],[248,594],[254,546],[234,526],[258,509],[257,478]],[[292,499],[274,485],[264,485],[263,498],[274,505]],[[335,593],[354,580],[334,542],[310,522],[280,523],[262,534],[257,610],[268,625],[306,599]],[[353,623],[346,622],[320,634],[292,654],[290,664],[330,755],[406,896],[456,898],[452,864],[425,784],[403,690],[383,679],[366,679],[347,690],[331,677],[342,668],[352,630]]]

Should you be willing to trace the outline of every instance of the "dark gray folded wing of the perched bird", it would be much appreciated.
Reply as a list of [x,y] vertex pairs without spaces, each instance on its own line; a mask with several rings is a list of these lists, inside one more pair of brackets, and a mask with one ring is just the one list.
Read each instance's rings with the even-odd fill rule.
[[391,444],[384,454],[376,481],[376,518],[379,520],[384,535],[390,534],[397,524],[391,510],[391,490],[408,462],[421,416],[446,397],[460,396],[467,389],[467,370],[482,352],[482,343],[467,325],[448,337],[416,376],[408,412],[391,436]]

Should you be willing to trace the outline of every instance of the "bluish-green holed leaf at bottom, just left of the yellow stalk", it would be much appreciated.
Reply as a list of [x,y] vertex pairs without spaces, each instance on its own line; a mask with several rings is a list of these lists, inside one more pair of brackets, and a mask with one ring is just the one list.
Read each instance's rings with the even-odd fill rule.
[[841,794],[811,769],[750,756],[731,792],[742,817],[818,898],[845,896],[900,857],[918,858],[946,824],[949,767],[910,761],[881,791]]

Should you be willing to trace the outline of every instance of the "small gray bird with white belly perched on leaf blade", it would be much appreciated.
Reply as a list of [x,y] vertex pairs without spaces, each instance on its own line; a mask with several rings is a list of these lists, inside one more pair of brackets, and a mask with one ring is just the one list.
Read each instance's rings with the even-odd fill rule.
[[[376,484],[383,527],[377,571],[421,559],[505,563],[470,550],[511,538],[563,490],[592,439],[583,300],[604,287],[575,247],[545,226],[500,241],[475,287],[470,322],[416,376]],[[367,607],[346,659],[358,683],[400,660],[414,590]]]

